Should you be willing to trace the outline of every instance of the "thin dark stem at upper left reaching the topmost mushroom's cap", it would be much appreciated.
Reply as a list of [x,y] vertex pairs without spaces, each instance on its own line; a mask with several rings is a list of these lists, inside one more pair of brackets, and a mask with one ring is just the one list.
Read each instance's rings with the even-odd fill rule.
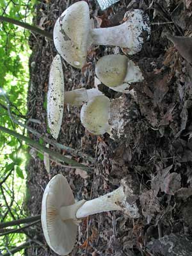
[[49,32],[47,32],[43,29],[37,28],[36,26],[32,26],[32,25],[30,25],[26,22],[15,20],[15,19],[12,19],[12,18],[9,18],[9,17],[4,17],[4,16],[1,16],[1,15],[0,15],[0,20],[12,23],[14,25],[20,26],[20,27],[25,28],[25,29],[28,29],[31,32],[35,32],[35,33],[38,33],[39,35],[42,35],[42,36],[45,36],[45,37],[49,38],[49,40],[53,40],[52,33],[49,33]]

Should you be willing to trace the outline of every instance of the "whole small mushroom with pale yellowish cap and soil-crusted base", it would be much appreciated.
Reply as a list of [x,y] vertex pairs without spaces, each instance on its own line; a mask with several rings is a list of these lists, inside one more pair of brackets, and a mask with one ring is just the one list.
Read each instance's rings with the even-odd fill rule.
[[[126,106],[126,108],[124,108]],[[119,97],[109,100],[104,95],[92,98],[81,108],[81,124],[92,134],[110,134],[112,139],[126,137],[125,130],[132,120],[140,117],[133,98]],[[115,135],[115,136],[114,136]]]

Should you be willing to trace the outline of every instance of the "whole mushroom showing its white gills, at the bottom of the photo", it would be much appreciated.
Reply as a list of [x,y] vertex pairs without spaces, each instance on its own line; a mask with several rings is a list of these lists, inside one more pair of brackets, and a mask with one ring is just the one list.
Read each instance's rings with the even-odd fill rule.
[[74,247],[77,225],[81,218],[105,211],[125,211],[130,218],[139,218],[136,203],[129,204],[122,185],[115,191],[90,201],[75,202],[67,179],[55,175],[47,184],[42,199],[42,228],[47,244],[59,255],[68,255]]

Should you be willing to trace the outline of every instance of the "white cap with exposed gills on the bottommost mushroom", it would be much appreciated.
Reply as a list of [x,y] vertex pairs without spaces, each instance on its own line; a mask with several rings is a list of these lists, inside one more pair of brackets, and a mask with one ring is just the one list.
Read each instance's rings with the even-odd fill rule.
[[47,244],[59,255],[68,255],[74,247],[77,225],[72,220],[61,220],[60,207],[75,203],[67,179],[55,175],[47,184],[42,199],[42,228]]

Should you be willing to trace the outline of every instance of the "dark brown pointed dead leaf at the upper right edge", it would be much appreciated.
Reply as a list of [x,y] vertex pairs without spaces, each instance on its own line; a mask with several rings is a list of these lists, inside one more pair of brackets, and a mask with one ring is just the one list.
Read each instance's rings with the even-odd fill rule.
[[192,38],[188,36],[173,36],[167,34],[168,40],[172,41],[180,55],[189,63],[192,63]]

